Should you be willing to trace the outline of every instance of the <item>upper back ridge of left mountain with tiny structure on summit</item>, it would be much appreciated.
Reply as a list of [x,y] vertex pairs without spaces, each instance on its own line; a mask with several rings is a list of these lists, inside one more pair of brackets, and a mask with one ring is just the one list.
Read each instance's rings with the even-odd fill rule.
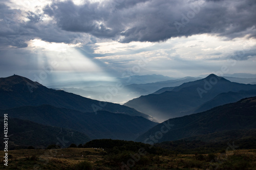
[[7,78],[0,78],[0,109],[40,105],[52,105],[80,112],[105,110],[113,113],[151,118],[130,107],[109,102],[100,102],[62,90],[49,89],[25,77],[14,75]]

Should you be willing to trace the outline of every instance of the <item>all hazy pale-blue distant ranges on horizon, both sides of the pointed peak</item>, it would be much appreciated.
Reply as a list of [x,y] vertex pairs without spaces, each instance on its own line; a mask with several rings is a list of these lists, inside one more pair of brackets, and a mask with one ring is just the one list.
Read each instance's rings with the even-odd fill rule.
[[[237,74],[238,76],[248,76],[252,78],[236,78],[236,77],[224,77],[231,82],[243,83],[243,84],[256,84],[256,77],[253,75]],[[201,75],[205,77],[204,75]],[[124,104],[132,99],[138,98],[141,95],[147,95],[156,92],[161,88],[176,87],[183,83],[196,81],[202,79],[200,77],[184,77],[184,78],[171,78],[162,75],[142,75],[142,76],[130,76],[124,78],[113,78],[110,81],[80,81],[62,83],[59,85],[50,85],[48,87],[56,90],[64,90],[74,94],[84,96],[86,98],[100,100],[106,102]],[[117,90],[116,85],[121,84],[122,88]],[[113,98],[104,98],[104,95],[114,92]],[[161,89],[164,92],[164,89]],[[161,91],[160,90],[160,91]],[[170,91],[170,90],[165,90]],[[161,93],[161,92],[159,92]]]

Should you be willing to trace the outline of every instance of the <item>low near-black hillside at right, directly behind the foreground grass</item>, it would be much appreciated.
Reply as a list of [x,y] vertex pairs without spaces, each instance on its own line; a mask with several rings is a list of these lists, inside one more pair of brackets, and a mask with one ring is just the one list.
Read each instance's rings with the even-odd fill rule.
[[164,141],[155,143],[154,146],[179,154],[223,154],[225,151],[227,153],[233,150],[255,149],[255,141],[256,129],[239,129],[198,135],[175,141]]

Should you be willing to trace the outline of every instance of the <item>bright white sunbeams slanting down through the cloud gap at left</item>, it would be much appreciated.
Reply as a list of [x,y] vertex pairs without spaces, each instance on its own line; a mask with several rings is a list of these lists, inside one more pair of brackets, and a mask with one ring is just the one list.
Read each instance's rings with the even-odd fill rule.
[[108,80],[111,77],[92,58],[79,52],[76,48],[80,46],[79,43],[52,43],[34,39],[28,44],[28,48],[36,52],[38,69],[47,72],[48,78],[51,78],[46,83]]

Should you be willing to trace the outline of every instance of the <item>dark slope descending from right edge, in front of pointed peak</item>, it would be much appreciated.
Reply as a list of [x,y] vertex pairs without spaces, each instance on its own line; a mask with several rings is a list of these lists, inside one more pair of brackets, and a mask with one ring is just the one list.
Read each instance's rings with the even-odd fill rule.
[[168,119],[136,139],[141,142],[179,140],[215,132],[256,129],[256,97],[211,110]]

